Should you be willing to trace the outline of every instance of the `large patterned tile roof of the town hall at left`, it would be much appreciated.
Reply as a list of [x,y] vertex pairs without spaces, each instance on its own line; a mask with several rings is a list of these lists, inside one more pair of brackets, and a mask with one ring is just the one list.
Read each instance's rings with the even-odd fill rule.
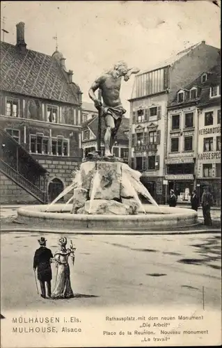
[[79,104],[79,86],[68,83],[58,61],[47,54],[1,42],[1,90]]

